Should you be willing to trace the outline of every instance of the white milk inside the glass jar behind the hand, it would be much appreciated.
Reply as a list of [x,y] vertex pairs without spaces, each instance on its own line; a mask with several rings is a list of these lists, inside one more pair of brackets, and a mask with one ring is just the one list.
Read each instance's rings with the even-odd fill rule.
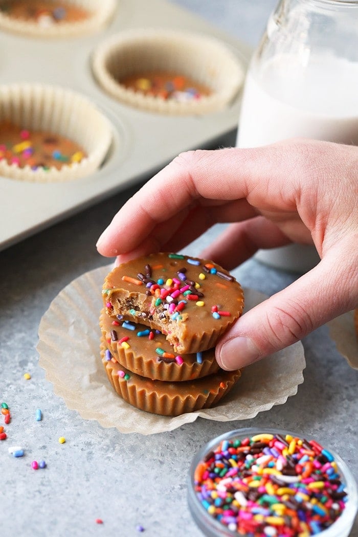
[[[358,146],[358,63],[327,53],[302,67],[281,55],[259,75],[249,70],[237,146],[264,146],[291,137]],[[319,262],[315,248],[298,245],[260,250],[256,258],[299,272]]]

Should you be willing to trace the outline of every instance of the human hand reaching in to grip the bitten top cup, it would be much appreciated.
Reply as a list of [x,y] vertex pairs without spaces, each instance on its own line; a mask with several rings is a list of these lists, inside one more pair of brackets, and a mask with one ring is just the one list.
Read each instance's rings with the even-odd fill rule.
[[320,263],[240,317],[216,346],[236,369],[302,339],[358,304],[358,147],[288,140],[253,149],[188,151],[114,216],[98,251],[123,263],[176,252],[231,222],[199,257],[231,270],[259,248],[314,243]]

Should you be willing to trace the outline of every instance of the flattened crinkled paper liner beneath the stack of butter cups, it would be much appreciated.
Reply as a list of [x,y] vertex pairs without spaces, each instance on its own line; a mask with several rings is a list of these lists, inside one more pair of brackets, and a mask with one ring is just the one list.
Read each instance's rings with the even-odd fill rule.
[[[114,393],[99,357],[101,288],[111,269],[111,265],[100,267],[72,281],[40,322],[39,365],[69,409],[103,427],[147,435],[171,431],[198,416],[223,422],[250,419],[297,393],[305,367],[300,342],[243,369],[239,382],[215,408],[170,418],[131,407]],[[265,299],[262,293],[245,289],[246,310]]]

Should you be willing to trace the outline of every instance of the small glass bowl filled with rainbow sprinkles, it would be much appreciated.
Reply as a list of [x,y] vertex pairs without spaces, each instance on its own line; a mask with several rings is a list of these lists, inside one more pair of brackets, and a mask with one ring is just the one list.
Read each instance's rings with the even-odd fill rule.
[[194,455],[188,504],[209,537],[348,537],[358,494],[345,462],[316,440],[247,428]]

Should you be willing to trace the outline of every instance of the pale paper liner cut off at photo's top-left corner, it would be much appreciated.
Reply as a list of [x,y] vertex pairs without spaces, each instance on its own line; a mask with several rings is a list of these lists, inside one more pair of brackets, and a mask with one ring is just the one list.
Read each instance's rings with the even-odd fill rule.
[[45,27],[35,21],[20,20],[0,11],[0,29],[37,38],[75,37],[100,30],[116,7],[116,0],[66,0],[66,3],[88,11],[89,17],[74,22],[61,21]]

